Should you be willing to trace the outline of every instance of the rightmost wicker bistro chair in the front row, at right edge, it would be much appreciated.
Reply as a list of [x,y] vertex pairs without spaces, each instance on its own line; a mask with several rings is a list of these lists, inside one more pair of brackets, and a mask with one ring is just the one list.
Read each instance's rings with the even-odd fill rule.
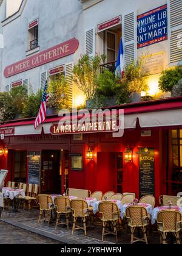
[[177,244],[180,244],[180,231],[182,224],[181,213],[176,210],[163,210],[157,215],[158,231],[166,244],[167,233],[174,233]]

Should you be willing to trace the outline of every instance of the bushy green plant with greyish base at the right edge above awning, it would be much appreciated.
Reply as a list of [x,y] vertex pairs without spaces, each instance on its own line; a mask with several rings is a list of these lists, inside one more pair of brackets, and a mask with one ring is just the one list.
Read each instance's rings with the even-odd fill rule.
[[182,68],[166,69],[160,76],[159,88],[163,92],[172,93],[173,97],[182,96]]

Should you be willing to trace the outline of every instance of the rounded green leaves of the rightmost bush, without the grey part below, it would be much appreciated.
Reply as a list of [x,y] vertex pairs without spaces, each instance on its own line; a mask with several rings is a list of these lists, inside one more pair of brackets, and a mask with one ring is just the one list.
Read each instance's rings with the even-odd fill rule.
[[164,70],[159,80],[160,90],[163,92],[172,92],[172,88],[178,84],[181,78],[182,69],[179,66]]

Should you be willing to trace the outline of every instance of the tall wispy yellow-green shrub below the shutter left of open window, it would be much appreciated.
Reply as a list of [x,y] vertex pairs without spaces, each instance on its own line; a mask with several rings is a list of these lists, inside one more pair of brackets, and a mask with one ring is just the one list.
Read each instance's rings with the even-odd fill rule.
[[95,55],[93,59],[90,59],[89,55],[85,54],[81,55],[78,63],[73,67],[73,82],[86,94],[89,100],[92,100],[95,96],[96,79],[105,60],[105,55]]

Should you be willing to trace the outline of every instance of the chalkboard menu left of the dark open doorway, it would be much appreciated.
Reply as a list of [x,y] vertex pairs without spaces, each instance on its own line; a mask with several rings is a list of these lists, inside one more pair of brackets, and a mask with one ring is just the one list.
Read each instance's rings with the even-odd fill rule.
[[28,169],[29,169],[29,184],[40,184],[41,171],[41,152],[29,152]]

